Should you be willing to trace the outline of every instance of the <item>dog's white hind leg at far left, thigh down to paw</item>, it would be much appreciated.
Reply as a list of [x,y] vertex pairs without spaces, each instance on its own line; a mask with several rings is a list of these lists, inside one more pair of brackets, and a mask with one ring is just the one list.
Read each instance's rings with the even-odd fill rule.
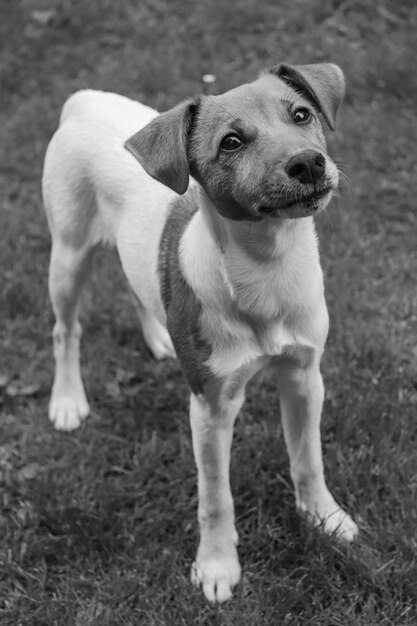
[[87,278],[92,247],[76,248],[53,237],[49,293],[55,313],[53,330],[55,379],[49,418],[58,430],[74,430],[87,417],[89,406],[81,380],[78,321],[81,289]]

